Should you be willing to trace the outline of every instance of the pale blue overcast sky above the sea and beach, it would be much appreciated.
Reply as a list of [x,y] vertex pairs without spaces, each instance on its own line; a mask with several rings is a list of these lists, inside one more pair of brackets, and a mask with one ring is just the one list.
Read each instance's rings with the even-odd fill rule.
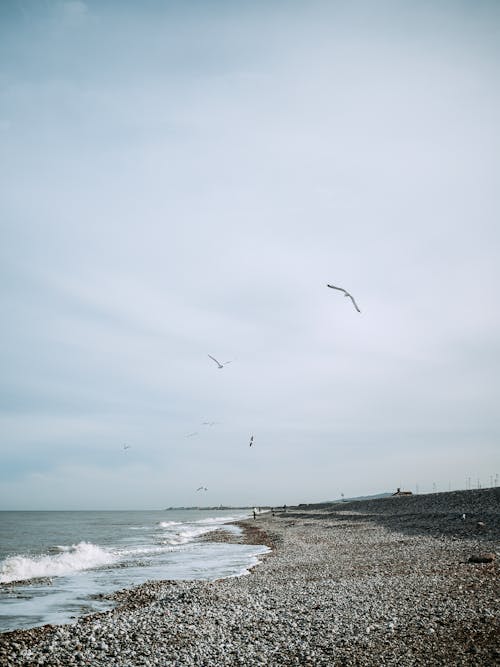
[[494,482],[499,56],[480,0],[4,0],[0,507]]

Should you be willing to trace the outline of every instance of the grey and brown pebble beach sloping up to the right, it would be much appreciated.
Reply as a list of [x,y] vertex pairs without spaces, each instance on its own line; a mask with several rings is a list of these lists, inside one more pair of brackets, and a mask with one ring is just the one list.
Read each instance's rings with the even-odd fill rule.
[[248,575],[119,591],[0,635],[0,664],[500,664],[499,514],[499,489],[265,512],[207,538],[267,545]]

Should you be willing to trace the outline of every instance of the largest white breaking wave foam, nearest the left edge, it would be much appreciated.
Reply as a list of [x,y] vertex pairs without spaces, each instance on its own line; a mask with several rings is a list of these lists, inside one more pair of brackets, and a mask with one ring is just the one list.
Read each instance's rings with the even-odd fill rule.
[[109,551],[90,542],[58,546],[57,555],[12,556],[0,563],[0,583],[23,581],[35,577],[60,577],[80,570],[89,570],[114,563],[117,558]]

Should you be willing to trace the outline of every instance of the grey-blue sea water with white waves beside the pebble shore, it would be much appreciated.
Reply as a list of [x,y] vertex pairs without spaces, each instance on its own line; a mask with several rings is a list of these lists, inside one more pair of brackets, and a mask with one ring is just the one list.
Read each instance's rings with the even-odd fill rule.
[[[99,595],[151,579],[246,574],[265,546],[201,538],[248,512],[0,512],[0,632],[72,623],[112,607]],[[19,582],[13,585],[11,582]]]

